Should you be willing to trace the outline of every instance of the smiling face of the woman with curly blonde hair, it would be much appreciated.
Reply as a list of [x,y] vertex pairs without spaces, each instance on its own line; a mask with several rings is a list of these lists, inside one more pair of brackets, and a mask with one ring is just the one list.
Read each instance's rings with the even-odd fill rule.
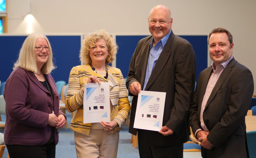
[[108,47],[104,39],[99,39],[95,42],[94,47],[89,51],[92,65],[101,64],[105,65],[108,56]]

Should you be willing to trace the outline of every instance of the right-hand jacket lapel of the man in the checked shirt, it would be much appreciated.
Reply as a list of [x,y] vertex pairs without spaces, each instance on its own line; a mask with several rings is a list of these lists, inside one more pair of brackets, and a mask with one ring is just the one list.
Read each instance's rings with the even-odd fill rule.
[[236,60],[234,58],[231,59],[231,61],[228,63],[226,68],[221,73],[218,81],[216,82],[214,88],[212,89],[212,92],[211,92],[211,94],[209,96],[209,99],[208,99],[208,101],[206,103],[205,109],[209,106],[209,104],[211,103],[212,99],[214,99],[214,97],[217,94],[217,92],[219,91],[221,85],[226,80],[226,78],[229,75],[229,73],[232,71],[232,67],[234,66],[235,63],[236,63]]

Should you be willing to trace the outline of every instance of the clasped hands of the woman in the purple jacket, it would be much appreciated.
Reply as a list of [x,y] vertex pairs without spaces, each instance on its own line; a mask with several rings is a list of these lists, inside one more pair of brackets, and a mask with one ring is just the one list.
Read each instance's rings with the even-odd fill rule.
[[58,117],[55,114],[49,114],[48,125],[61,129],[66,123],[65,116],[60,114]]

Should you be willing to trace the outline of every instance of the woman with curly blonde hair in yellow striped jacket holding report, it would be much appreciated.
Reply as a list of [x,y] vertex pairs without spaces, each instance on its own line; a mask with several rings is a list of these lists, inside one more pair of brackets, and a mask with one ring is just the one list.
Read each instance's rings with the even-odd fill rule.
[[[80,60],[72,68],[65,101],[69,112],[76,111],[70,128],[74,130],[78,158],[116,157],[119,131],[130,113],[130,104],[120,69],[107,64],[115,59],[118,46],[104,30],[83,39]],[[108,82],[110,85],[110,122],[83,123],[84,84]]]

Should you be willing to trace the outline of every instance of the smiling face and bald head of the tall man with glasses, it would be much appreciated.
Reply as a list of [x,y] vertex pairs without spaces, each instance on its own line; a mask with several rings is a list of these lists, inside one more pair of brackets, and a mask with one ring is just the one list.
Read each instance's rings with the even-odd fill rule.
[[[170,19],[169,9],[165,6],[156,6],[150,12],[148,20],[157,20],[155,24],[148,21],[148,29],[154,38],[155,43],[164,38],[171,30],[173,18]],[[158,20],[166,21],[165,24],[160,24]]]

